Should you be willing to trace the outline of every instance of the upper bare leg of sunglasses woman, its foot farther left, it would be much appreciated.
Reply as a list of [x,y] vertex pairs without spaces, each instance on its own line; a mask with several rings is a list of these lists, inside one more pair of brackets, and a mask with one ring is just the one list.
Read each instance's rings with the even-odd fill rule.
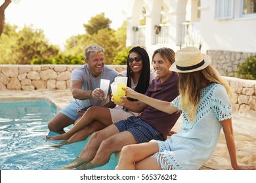
[[70,129],[68,132],[54,137],[46,137],[46,139],[52,141],[69,139],[72,135],[74,135],[74,133],[80,129],[83,129],[83,127],[91,124],[91,122],[94,121],[98,121],[107,126],[111,125],[112,118],[109,108],[97,106],[90,107],[87,109],[85,114],[83,114],[83,116],[75,123],[74,127],[72,127],[72,129]]

